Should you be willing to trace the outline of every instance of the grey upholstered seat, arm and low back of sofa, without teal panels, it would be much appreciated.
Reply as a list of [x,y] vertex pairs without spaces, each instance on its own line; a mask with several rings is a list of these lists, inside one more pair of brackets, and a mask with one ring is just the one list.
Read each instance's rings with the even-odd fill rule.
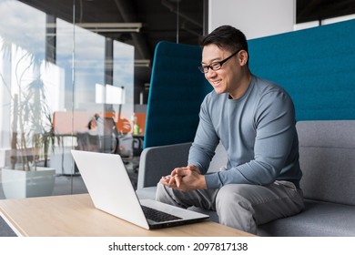
[[[299,121],[300,182],[305,209],[298,215],[260,225],[260,236],[355,236],[355,120]],[[145,148],[140,158],[137,195],[154,199],[161,176],[186,166],[191,143]],[[225,166],[220,145],[208,171]],[[218,222],[215,211],[197,209]]]

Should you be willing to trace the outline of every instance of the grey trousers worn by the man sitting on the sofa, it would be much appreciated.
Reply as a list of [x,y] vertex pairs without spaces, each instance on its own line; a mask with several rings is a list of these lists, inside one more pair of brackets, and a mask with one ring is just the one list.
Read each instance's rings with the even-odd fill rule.
[[219,223],[257,234],[257,227],[274,219],[299,213],[304,208],[300,189],[289,181],[269,186],[228,184],[221,189],[181,191],[157,185],[158,201],[189,208],[216,210]]

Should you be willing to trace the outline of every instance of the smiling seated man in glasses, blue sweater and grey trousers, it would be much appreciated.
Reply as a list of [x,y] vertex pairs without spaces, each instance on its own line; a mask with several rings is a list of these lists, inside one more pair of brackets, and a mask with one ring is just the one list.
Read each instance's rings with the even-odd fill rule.
[[[157,200],[216,210],[221,224],[256,234],[259,224],[303,209],[294,106],[285,90],[250,73],[238,29],[220,26],[201,46],[199,69],[214,90],[201,105],[188,166],[160,180]],[[206,174],[219,142],[228,165]]]

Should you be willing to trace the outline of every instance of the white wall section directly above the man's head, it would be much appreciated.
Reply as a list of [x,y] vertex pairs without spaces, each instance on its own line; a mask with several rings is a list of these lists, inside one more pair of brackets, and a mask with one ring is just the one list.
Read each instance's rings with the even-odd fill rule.
[[295,0],[209,0],[208,32],[222,25],[235,26],[248,39],[293,31]]

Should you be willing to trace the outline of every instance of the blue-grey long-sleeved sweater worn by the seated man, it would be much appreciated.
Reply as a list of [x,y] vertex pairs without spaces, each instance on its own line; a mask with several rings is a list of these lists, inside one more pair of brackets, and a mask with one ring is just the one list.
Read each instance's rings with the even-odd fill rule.
[[206,174],[219,141],[226,148],[226,171],[207,174],[207,189],[231,183],[268,185],[289,180],[299,187],[299,140],[288,93],[252,76],[246,93],[231,99],[210,92],[201,104],[188,164]]

